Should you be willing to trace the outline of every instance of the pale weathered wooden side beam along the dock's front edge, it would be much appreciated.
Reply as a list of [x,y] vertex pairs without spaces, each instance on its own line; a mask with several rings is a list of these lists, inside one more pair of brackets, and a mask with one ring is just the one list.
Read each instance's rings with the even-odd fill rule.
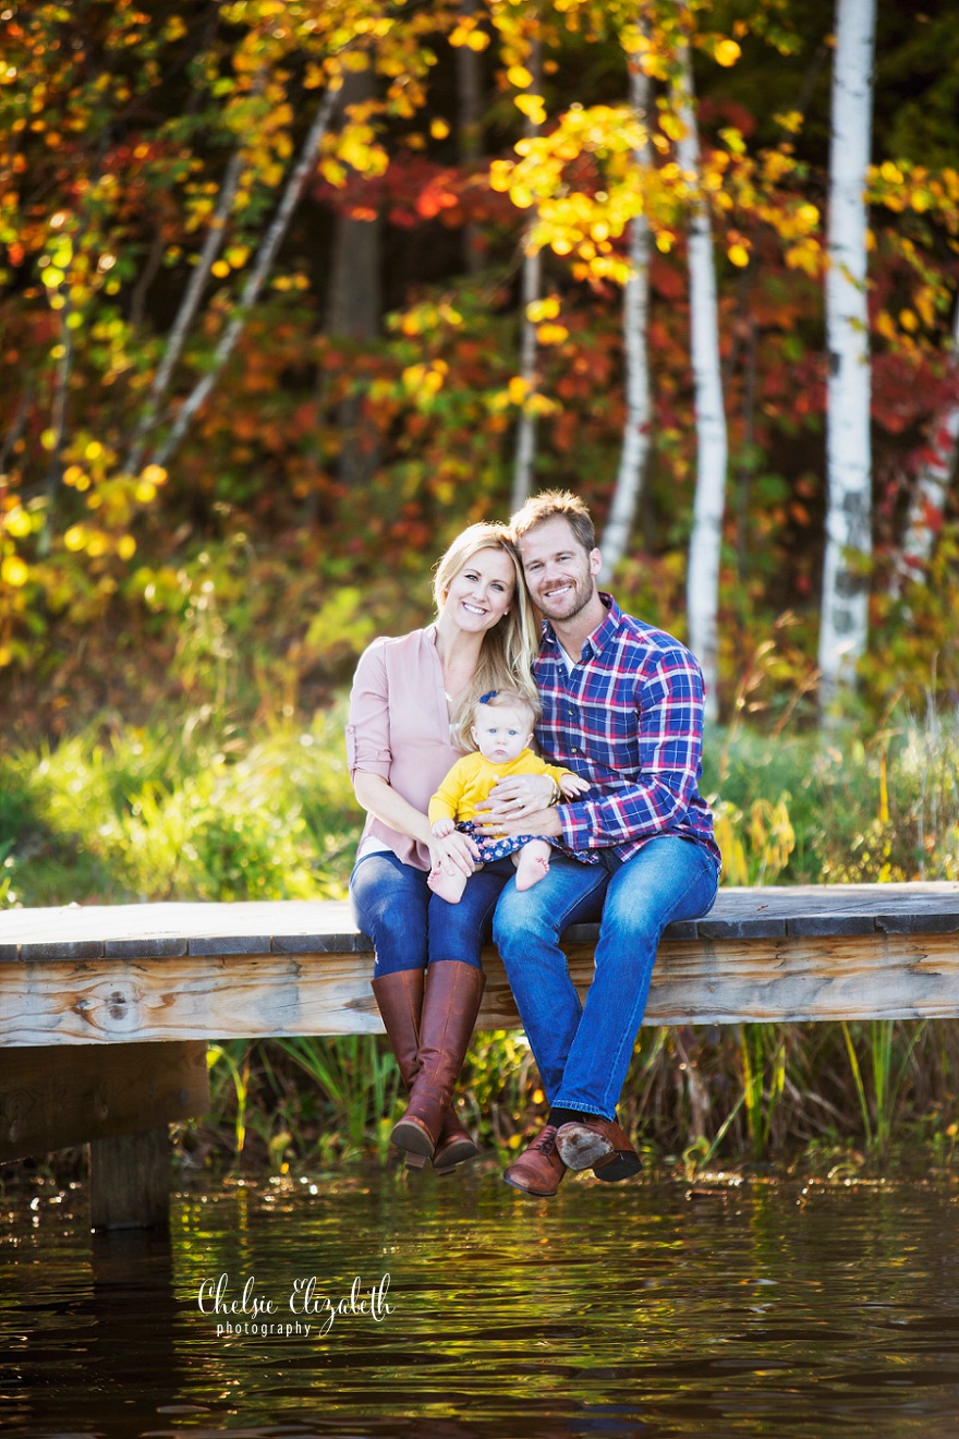
[[[585,993],[592,945],[571,944]],[[486,951],[483,1029],[518,1027],[502,963]],[[92,1045],[266,1035],[381,1033],[364,954],[45,960],[0,973],[0,1043]],[[667,940],[647,1025],[906,1019],[959,1014],[952,934]]]

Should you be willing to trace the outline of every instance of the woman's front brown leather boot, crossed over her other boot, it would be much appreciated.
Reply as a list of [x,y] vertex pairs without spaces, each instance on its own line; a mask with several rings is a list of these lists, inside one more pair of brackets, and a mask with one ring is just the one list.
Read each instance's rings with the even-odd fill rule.
[[[430,964],[420,1012],[420,1071],[407,1112],[394,1127],[393,1143],[408,1154],[434,1157],[453,1086],[460,1076],[486,976],[474,964],[439,960]],[[449,1163],[449,1160],[447,1160]]]

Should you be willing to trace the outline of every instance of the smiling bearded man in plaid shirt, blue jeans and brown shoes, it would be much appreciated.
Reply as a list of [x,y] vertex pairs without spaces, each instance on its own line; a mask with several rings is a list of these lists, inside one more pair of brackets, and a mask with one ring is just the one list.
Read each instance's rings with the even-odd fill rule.
[[[506,886],[493,922],[549,1101],[545,1128],[505,1179],[548,1197],[566,1168],[592,1168],[602,1180],[640,1168],[615,1107],[656,950],[670,921],[712,907],[720,856],[697,789],[703,679],[696,659],[597,590],[601,555],[577,495],[548,491],[529,499],[512,530],[545,617],[536,740],[551,763],[591,786],[574,803],[543,809],[542,777],[516,777],[490,802],[490,827],[545,835],[559,846],[533,889]],[[566,925],[595,920],[600,943],[584,1006],[559,940]]]

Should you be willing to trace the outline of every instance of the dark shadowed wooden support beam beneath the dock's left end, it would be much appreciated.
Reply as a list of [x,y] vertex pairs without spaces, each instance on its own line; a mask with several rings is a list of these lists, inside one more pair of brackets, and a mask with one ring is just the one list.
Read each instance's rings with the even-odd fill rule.
[[0,1049],[0,1161],[196,1118],[208,1107],[201,1042]]

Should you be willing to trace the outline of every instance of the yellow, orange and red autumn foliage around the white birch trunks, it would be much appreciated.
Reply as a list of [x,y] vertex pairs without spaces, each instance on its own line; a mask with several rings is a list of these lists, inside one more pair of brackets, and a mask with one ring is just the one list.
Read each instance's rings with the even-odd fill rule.
[[[958,42],[949,7],[926,10],[883,22],[868,194],[863,682],[880,709],[933,665],[940,688],[959,684],[949,505],[920,517],[929,563],[906,583],[899,564],[959,399],[942,102]],[[322,701],[372,633],[421,622],[450,534],[506,512],[525,409],[536,479],[581,491],[601,528],[638,214],[654,240],[653,455],[617,587],[683,633],[683,236],[703,196],[730,435],[720,698],[730,714],[769,639],[748,702],[781,711],[809,692],[828,4],[83,0],[12,3],[0,26],[0,684],[22,718],[60,731],[167,698]],[[700,96],[694,176],[670,104],[680,42]],[[653,83],[647,114],[628,104],[630,66]],[[525,249],[543,253],[532,389]],[[334,288],[357,317],[339,331]]]

